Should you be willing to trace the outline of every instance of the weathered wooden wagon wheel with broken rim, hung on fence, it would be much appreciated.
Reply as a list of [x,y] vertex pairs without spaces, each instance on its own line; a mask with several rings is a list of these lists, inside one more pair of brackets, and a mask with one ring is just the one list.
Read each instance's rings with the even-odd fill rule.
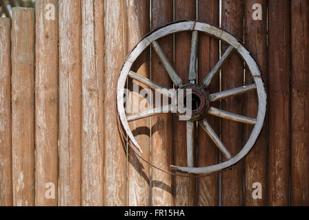
[[[183,85],[181,78],[178,76],[174,67],[172,67],[172,65],[168,61],[168,58],[166,58],[166,55],[163,53],[159,43],[157,42],[157,39],[160,39],[163,36],[181,31],[192,32],[189,85]],[[223,41],[224,43],[227,43],[229,45],[228,49],[223,54],[217,65],[215,65],[215,67],[211,70],[208,76],[206,76],[206,78],[203,79],[200,85],[195,84],[195,80],[197,78],[196,61],[197,61],[197,47],[198,47],[197,45],[198,32],[208,34],[209,36],[215,37],[216,39],[219,39],[220,41]],[[136,148],[140,152],[142,152],[139,144],[134,139],[132,131],[130,131],[130,127],[128,125],[129,121],[137,120],[140,118],[146,118],[151,115],[157,115],[171,109],[170,105],[167,105],[157,109],[150,109],[149,111],[143,111],[141,113],[128,116],[126,115],[124,109],[123,91],[126,85],[127,77],[133,78],[134,80],[137,80],[140,83],[147,85],[151,89],[161,89],[161,93],[163,95],[171,96],[171,94],[166,92],[167,90],[163,86],[155,82],[152,82],[148,78],[144,78],[143,76],[139,76],[138,74],[130,71],[132,63],[134,63],[134,61],[143,52],[143,50],[145,50],[150,45],[152,46],[156,54],[159,56],[161,62],[166,68],[168,76],[170,76],[170,79],[175,84],[175,87],[177,87],[177,91],[179,91],[180,89],[185,89],[184,90],[185,92],[190,91],[190,94],[192,96],[195,96],[195,98],[198,99],[197,103],[199,103],[195,108],[188,109],[188,111],[191,111],[190,114],[191,116],[187,120],[188,167],[179,167],[171,165],[171,168],[173,170],[178,170],[183,173],[210,174],[210,173],[217,173],[220,170],[226,169],[229,166],[232,166],[233,164],[236,164],[241,159],[243,159],[243,157],[245,157],[249,153],[250,149],[252,148],[252,146],[254,146],[255,142],[257,141],[257,138],[259,137],[259,133],[261,132],[263,122],[266,116],[267,98],[266,98],[266,90],[264,88],[263,80],[261,78],[261,72],[259,71],[257,63],[255,63],[255,60],[252,58],[248,50],[246,50],[246,48],[241,43],[239,43],[239,41],[237,41],[237,39],[235,39],[232,35],[228,34],[228,32],[221,30],[220,28],[208,25],[207,23],[200,23],[197,21],[181,21],[178,23],[171,23],[170,25],[166,25],[163,28],[155,30],[155,32],[152,32],[151,34],[143,38],[126,58],[126,61],[121,69],[121,74],[119,76],[117,85],[117,110],[119,113],[121,124],[123,125],[123,129],[124,131],[126,131],[126,135],[128,135],[128,138],[131,140],[132,144],[136,146]],[[237,52],[239,56],[241,56],[243,61],[246,62],[246,65],[250,70],[254,83],[251,85],[246,85],[243,87],[230,89],[227,91],[221,91],[216,94],[209,94],[208,87],[212,81],[212,78],[219,73],[221,67],[224,65],[224,63],[226,63],[226,61],[228,61],[228,58],[233,52]],[[210,102],[215,102],[217,100],[221,100],[223,98],[228,98],[231,96],[237,96],[239,94],[244,94],[252,90],[257,90],[257,96],[259,102],[257,118],[248,118],[243,115],[237,115],[235,113],[230,113],[227,111],[223,111],[221,109],[210,107]],[[177,113],[180,114],[179,111],[177,111]],[[215,131],[212,129],[212,127],[206,120],[205,118],[206,114],[215,115],[219,118],[225,118],[228,120],[255,125],[248,141],[237,155],[232,156],[230,154],[228,148],[224,146],[218,135],[215,133]],[[196,121],[199,122],[200,126],[203,127],[207,135],[210,136],[210,138],[212,139],[213,142],[215,142],[216,146],[219,148],[221,153],[223,153],[223,156],[226,157],[227,159],[226,162],[206,167],[193,167],[194,164],[193,126]]]

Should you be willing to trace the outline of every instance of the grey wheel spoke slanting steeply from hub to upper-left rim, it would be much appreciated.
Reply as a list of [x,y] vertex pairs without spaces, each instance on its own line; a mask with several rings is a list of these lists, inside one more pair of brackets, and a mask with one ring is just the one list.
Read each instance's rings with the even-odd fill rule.
[[168,72],[168,76],[172,82],[177,85],[177,87],[181,87],[183,85],[181,78],[178,76],[177,72],[175,71],[174,67],[168,61],[166,54],[164,54],[163,50],[161,49],[159,43],[157,41],[152,42],[152,47],[159,56],[161,62],[163,63],[164,67],[166,68],[166,72]]

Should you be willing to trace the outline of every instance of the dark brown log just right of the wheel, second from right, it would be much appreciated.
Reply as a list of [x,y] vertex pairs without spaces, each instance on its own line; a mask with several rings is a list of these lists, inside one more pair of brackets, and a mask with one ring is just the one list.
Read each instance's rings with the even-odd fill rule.
[[290,140],[290,1],[268,1],[268,205],[287,206]]

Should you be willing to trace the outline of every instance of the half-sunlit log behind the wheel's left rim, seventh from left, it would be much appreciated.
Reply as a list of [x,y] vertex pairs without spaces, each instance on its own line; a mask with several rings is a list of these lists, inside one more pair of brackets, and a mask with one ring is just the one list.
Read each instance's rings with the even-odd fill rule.
[[[145,36],[150,30],[150,1],[149,0],[129,0],[128,1],[128,51],[132,50],[134,46]],[[146,50],[135,61],[132,70],[150,78],[150,50]],[[140,89],[147,89],[145,85],[141,85],[136,80],[129,80],[129,87],[132,84],[139,84]],[[139,94],[132,94],[132,96],[139,96]],[[143,96],[140,96],[139,103],[145,101]],[[134,100],[134,98],[133,98]],[[133,103],[134,104],[134,103]],[[136,120],[130,122],[130,128],[134,131],[134,137],[139,142],[144,159],[150,160],[150,118]],[[141,161],[134,155],[131,148],[129,148],[128,155],[128,205],[129,206],[149,206],[150,204],[150,167],[145,162]]]

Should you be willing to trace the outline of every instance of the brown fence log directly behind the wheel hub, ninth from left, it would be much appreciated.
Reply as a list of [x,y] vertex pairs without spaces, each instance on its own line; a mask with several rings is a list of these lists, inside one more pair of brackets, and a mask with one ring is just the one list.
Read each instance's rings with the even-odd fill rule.
[[[197,18],[197,3],[190,0],[175,1],[175,21],[194,20]],[[183,83],[189,84],[189,67],[192,32],[175,34],[175,70]],[[174,164],[188,166],[186,121],[175,117]],[[175,206],[195,206],[196,179],[175,177]]]

